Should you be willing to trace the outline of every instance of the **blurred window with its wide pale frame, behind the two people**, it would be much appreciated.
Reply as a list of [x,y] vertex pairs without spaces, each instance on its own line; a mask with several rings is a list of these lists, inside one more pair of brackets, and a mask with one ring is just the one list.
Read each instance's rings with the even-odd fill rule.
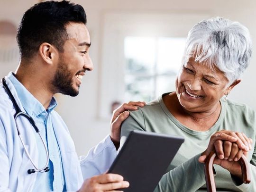
[[149,101],[174,91],[185,37],[205,18],[209,15],[197,12],[106,12],[102,55],[94,63],[100,72],[97,117],[109,121],[116,103]]

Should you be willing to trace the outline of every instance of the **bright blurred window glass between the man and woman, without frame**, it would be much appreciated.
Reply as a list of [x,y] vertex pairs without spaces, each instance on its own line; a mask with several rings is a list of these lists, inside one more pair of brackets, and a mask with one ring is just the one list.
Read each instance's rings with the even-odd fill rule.
[[153,100],[174,91],[186,38],[131,37],[124,40],[125,100]]

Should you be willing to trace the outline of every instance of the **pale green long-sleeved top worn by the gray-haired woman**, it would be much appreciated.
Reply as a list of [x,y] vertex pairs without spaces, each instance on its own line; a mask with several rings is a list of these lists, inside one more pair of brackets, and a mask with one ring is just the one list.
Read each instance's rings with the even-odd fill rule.
[[256,113],[244,104],[229,100],[220,100],[220,103],[219,119],[204,132],[194,131],[182,125],[166,108],[162,97],[147,103],[137,111],[130,111],[130,116],[122,124],[120,146],[124,144],[132,130],[179,135],[185,138],[167,173],[156,187],[156,192],[207,191],[203,164],[198,161],[198,158],[206,150],[210,136],[223,129],[243,132],[253,139],[253,150],[248,153],[251,163],[251,183],[237,185],[238,183],[235,179],[232,180],[233,177],[231,178],[228,170],[214,165],[217,191],[256,192]]

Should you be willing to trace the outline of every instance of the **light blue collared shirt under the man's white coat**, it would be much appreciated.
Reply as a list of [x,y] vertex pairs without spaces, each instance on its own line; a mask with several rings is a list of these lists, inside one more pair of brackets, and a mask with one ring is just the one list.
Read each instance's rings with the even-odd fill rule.
[[[30,92],[27,91],[27,89],[16,79],[13,74],[9,76],[9,79],[17,91],[18,98],[21,101],[23,108],[26,110],[27,114],[34,119],[37,128],[39,129],[39,132],[48,148],[48,167],[50,168],[50,171],[46,173],[37,173],[36,185],[34,186],[33,191],[66,191],[64,189],[65,180],[61,154],[55,137],[51,117],[51,112],[57,105],[55,98],[52,98],[48,109],[45,109],[43,105]],[[46,152],[43,142],[41,141],[37,132],[35,132],[35,138],[37,140],[39,152],[38,168],[42,168],[46,165]]]

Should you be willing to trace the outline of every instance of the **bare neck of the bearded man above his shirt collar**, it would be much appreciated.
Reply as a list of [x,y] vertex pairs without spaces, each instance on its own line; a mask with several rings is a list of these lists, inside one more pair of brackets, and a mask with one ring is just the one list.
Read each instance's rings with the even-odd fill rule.
[[54,93],[50,91],[46,78],[40,75],[42,73],[37,73],[34,70],[27,69],[27,67],[24,70],[19,66],[15,72],[15,77],[47,109]]

